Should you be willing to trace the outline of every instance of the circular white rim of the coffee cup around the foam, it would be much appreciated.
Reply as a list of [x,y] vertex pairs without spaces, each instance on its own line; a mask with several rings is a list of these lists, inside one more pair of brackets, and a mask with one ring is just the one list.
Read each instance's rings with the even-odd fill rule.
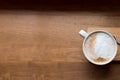
[[[113,56],[112,56],[109,60],[107,60],[107,61],[105,61],[105,62],[101,62],[101,63],[98,63],[98,62],[95,62],[95,61],[91,60],[91,59],[87,56],[87,53],[86,53],[86,51],[85,51],[85,49],[84,49],[84,48],[85,48],[85,47],[84,47],[84,46],[85,46],[85,42],[86,42],[86,40],[88,39],[88,37],[90,37],[92,34],[98,33],[98,32],[103,32],[103,33],[108,34],[109,36],[111,36],[111,38],[114,40],[114,43],[115,43],[115,51],[114,51],[114,53],[113,53]],[[83,49],[84,56],[87,58],[87,60],[88,60],[89,62],[91,62],[91,63],[93,63],[93,64],[95,64],[95,65],[105,65],[105,64],[110,63],[110,62],[115,58],[115,56],[116,56],[116,54],[117,54],[117,49],[118,49],[118,47],[117,47],[117,42],[116,42],[115,38],[112,36],[111,33],[107,32],[107,31],[105,31],[105,30],[95,30],[95,31],[90,32],[90,33],[88,34],[88,36],[85,37],[85,39],[84,39],[84,41],[83,41],[82,47],[83,47],[82,49]]]

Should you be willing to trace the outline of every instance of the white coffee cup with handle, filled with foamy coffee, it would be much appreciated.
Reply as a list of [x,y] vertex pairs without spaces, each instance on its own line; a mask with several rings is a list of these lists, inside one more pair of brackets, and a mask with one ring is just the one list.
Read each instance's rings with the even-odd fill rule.
[[84,30],[80,30],[79,34],[85,38],[82,49],[89,62],[105,65],[115,58],[117,41],[109,32],[96,30],[88,34]]

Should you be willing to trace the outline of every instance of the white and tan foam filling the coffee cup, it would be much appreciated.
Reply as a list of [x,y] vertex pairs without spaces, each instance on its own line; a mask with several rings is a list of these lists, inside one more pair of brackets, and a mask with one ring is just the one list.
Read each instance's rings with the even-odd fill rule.
[[104,62],[115,52],[113,38],[106,33],[94,33],[85,42],[85,51],[95,62]]

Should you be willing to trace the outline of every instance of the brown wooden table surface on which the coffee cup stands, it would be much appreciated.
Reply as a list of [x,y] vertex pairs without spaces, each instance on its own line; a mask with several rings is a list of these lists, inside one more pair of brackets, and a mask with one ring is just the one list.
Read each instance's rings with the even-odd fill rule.
[[80,29],[120,27],[119,12],[0,11],[0,80],[119,80],[120,62],[89,63]]

